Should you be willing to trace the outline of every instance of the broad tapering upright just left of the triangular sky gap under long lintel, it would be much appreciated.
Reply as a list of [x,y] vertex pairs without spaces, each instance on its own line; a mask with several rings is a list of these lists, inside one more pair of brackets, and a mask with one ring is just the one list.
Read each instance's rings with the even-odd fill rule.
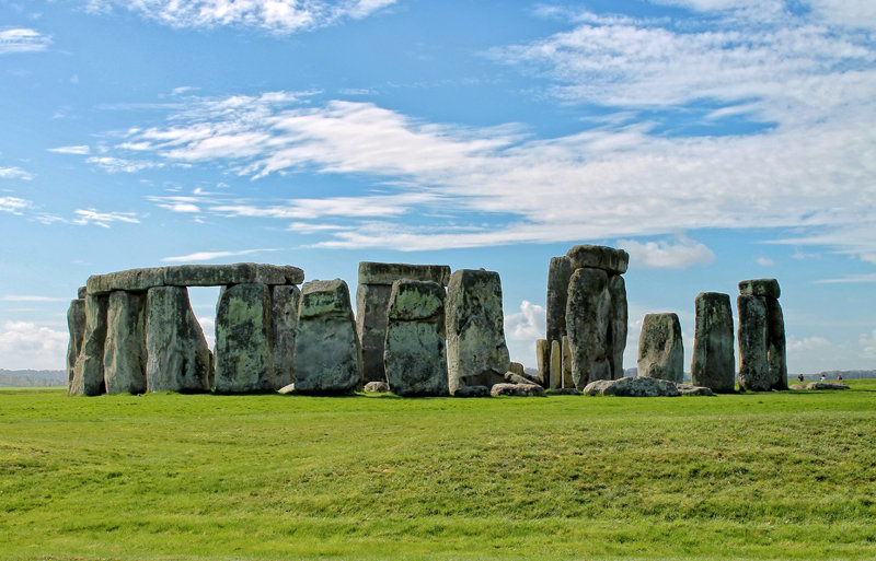
[[149,289],[146,297],[146,386],[149,391],[209,391],[212,355],[183,287]]

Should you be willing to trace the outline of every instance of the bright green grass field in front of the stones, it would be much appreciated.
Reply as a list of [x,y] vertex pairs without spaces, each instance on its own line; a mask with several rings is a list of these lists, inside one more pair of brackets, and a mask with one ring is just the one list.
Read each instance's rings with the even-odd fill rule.
[[0,559],[874,559],[876,381],[712,398],[0,390]]

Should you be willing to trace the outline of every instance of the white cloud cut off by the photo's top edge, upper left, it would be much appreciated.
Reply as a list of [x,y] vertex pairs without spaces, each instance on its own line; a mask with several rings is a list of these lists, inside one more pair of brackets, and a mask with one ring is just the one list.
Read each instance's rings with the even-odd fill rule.
[[88,0],[92,12],[114,5],[172,27],[256,27],[286,35],[358,20],[396,0]]

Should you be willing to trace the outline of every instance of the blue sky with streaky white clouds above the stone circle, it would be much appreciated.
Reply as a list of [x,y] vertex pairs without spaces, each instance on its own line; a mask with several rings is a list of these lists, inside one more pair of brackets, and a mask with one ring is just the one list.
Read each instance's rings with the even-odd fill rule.
[[855,0],[0,0],[0,367],[64,367],[93,273],[360,260],[498,271],[534,366],[591,243],[626,367],[774,277],[791,372],[876,369],[875,38]]

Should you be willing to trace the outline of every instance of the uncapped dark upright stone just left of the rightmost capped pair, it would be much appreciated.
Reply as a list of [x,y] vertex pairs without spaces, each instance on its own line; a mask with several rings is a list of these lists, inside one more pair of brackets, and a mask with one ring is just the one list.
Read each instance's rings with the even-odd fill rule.
[[691,382],[712,391],[733,391],[736,364],[730,296],[721,292],[701,292],[694,306],[696,324]]

